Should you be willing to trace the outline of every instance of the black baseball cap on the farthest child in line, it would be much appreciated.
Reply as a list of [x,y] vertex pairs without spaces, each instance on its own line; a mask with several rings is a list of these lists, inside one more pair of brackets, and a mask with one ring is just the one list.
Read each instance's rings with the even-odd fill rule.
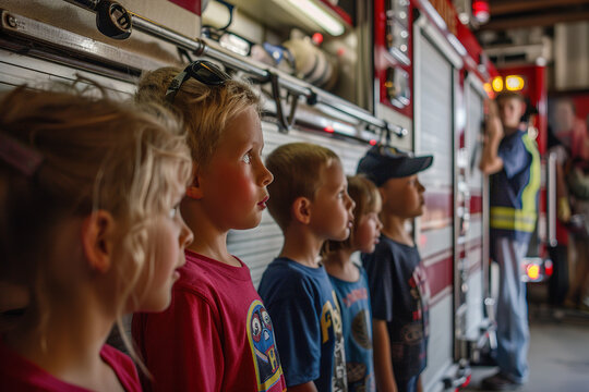
[[388,179],[398,179],[416,174],[432,166],[433,156],[416,157],[412,152],[395,147],[376,145],[368,150],[358,162],[358,174],[364,174],[376,186],[382,186]]

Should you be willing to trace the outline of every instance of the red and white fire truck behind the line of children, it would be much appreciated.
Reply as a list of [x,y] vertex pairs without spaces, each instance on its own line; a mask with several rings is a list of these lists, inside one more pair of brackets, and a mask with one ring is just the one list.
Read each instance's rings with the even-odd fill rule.
[[[0,12],[2,90],[96,82],[128,99],[142,72],[207,59],[265,97],[265,154],[320,144],[347,174],[378,143],[433,155],[420,176],[426,212],[411,228],[429,281],[423,383],[468,383],[469,363],[494,344],[478,159],[483,103],[500,73],[449,1],[0,0]],[[229,236],[255,285],[281,244],[267,213]]]

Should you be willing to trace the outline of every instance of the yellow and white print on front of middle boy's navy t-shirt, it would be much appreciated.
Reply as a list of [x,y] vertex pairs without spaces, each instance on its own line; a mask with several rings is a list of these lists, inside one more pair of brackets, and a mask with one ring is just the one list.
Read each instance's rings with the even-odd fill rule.
[[334,298],[336,308],[334,309],[334,306],[329,301],[323,305],[321,313],[321,331],[323,336],[322,343],[326,343],[329,340],[329,329],[333,330],[335,347],[332,391],[337,392],[347,391],[346,353],[344,350],[344,330],[341,327],[339,304],[334,291],[332,291],[332,297]]

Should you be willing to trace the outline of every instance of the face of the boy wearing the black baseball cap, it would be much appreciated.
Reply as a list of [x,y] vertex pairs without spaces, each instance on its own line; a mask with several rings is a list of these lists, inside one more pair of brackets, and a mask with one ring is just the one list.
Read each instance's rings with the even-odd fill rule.
[[416,218],[423,213],[423,192],[417,174],[389,179],[380,188],[383,196],[383,213],[401,218]]

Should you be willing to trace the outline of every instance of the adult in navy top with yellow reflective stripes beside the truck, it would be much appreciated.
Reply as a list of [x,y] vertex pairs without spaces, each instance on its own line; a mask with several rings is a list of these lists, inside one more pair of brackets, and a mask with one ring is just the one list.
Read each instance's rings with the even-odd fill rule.
[[521,117],[524,97],[502,93],[488,102],[483,152],[479,168],[491,174],[491,256],[500,265],[497,299],[498,371],[482,381],[483,388],[506,390],[528,379],[528,305],[521,262],[528,250],[538,215],[540,155]]

